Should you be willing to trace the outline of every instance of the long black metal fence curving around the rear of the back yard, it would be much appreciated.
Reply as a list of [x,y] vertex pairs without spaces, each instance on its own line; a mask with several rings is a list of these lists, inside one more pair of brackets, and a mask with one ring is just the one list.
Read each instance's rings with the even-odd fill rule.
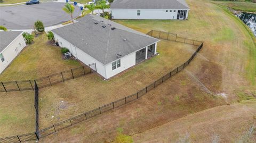
[[[18,142],[23,142],[23,141],[31,141],[31,140],[39,140],[40,138],[49,136],[50,134],[57,132],[59,130],[65,129],[67,127],[70,127],[74,124],[77,124],[79,122],[82,122],[84,120],[90,119],[93,116],[99,115],[101,113],[107,112],[109,110],[112,110],[116,107],[122,106],[124,104],[130,103],[133,100],[136,100],[143,95],[145,95],[148,91],[156,88],[157,86],[161,85],[164,81],[167,79],[173,77],[173,75],[177,74],[181,70],[185,69],[186,66],[194,59],[196,54],[201,50],[203,47],[204,42],[203,41],[198,41],[194,39],[189,39],[189,38],[183,38],[183,37],[178,37],[177,34],[175,33],[170,33],[170,32],[163,32],[163,31],[156,31],[156,30],[151,30],[147,33],[147,35],[155,37],[155,38],[161,38],[165,40],[173,40],[173,41],[178,41],[194,46],[198,46],[197,50],[194,52],[194,54],[189,58],[188,61],[185,63],[181,64],[174,70],[168,72],[167,74],[163,75],[163,77],[159,78],[158,80],[154,81],[150,85],[146,86],[145,88],[141,89],[135,94],[132,94],[130,96],[124,97],[122,99],[116,100],[115,102],[106,104],[104,106],[95,108],[92,111],[85,112],[83,114],[80,114],[78,116],[72,117],[68,120],[62,121],[60,123],[54,124],[51,127],[39,130],[39,132],[33,132],[33,133],[27,133],[27,134],[22,134],[18,136],[12,136],[12,137],[5,137],[5,138],[0,138],[0,143],[18,143]],[[174,40],[175,39],[175,40]]]

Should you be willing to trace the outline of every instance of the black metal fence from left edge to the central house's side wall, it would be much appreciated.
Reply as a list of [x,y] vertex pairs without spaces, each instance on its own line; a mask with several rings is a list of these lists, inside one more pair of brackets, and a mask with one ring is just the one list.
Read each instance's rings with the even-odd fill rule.
[[38,88],[48,87],[55,85],[59,82],[81,77],[83,75],[93,72],[97,72],[95,63],[67,71],[62,71],[60,73],[52,74],[47,77],[35,80],[5,81],[0,83],[0,92],[34,90],[33,85],[35,85],[35,81]]

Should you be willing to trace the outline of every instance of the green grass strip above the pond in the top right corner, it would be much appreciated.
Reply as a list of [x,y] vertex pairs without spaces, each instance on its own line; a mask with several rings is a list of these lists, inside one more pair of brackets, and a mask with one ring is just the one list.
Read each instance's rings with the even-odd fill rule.
[[236,11],[256,12],[256,3],[252,2],[214,1],[213,3],[228,6]]

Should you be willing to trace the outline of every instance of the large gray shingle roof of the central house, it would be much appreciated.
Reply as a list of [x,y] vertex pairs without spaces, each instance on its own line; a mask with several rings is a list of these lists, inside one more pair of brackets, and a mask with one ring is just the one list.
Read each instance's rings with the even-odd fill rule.
[[[94,22],[98,22],[98,24]],[[102,26],[106,26],[106,28]],[[113,27],[116,29],[111,30]],[[115,61],[159,41],[144,33],[91,14],[78,19],[77,23],[54,29],[52,32],[103,64]],[[118,57],[117,54],[122,56]]]

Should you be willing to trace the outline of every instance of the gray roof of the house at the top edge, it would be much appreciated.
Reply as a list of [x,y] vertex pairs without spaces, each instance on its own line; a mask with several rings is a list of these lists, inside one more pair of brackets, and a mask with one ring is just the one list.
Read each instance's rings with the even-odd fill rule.
[[114,0],[110,9],[189,9],[185,0]]

